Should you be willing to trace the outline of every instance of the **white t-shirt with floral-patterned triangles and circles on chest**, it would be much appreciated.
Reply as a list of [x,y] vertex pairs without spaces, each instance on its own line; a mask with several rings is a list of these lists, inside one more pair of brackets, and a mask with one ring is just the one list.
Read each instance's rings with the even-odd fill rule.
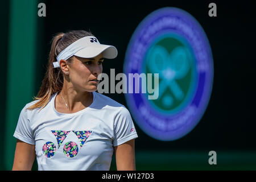
[[89,107],[76,113],[56,111],[51,96],[47,106],[20,112],[14,137],[35,144],[38,170],[109,170],[114,146],[137,138],[125,106],[93,92]]

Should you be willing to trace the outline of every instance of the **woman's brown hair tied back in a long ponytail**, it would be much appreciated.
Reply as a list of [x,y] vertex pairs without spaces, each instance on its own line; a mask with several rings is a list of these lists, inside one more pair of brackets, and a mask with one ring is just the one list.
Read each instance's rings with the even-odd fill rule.
[[[60,68],[54,68],[52,63],[57,61],[56,57],[61,51],[63,51],[66,47],[68,47],[76,40],[79,40],[85,36],[94,35],[84,30],[76,30],[69,31],[67,33],[61,32],[53,36],[51,40],[51,51],[49,52],[46,75],[44,76],[38,95],[33,98],[34,101],[39,101],[36,102],[34,105],[31,105],[27,109],[35,109],[38,107],[42,107],[41,109],[43,109],[43,107],[48,104],[52,94],[60,92],[60,90],[63,88],[63,72]],[[72,57],[66,60],[68,61],[68,64],[72,64]]]

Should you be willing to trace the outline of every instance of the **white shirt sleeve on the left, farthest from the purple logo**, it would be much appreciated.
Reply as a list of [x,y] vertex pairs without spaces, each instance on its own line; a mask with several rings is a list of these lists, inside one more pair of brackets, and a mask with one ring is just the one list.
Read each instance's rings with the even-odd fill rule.
[[20,111],[18,123],[13,136],[19,140],[22,140],[22,142],[35,144],[35,139],[32,134],[33,131],[27,117],[28,110],[26,109],[26,106],[24,106],[22,111]]

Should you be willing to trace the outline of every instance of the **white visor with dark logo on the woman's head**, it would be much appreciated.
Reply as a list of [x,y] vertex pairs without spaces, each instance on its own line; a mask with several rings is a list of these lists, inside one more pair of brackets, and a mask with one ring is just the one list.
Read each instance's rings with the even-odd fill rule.
[[59,62],[61,59],[67,60],[74,55],[84,58],[92,58],[98,56],[100,53],[102,53],[102,56],[106,59],[114,59],[117,57],[117,48],[100,44],[98,39],[94,36],[85,36],[84,38],[76,40],[76,42],[73,42],[61,51],[57,56],[57,61],[53,63],[53,67],[60,67]]

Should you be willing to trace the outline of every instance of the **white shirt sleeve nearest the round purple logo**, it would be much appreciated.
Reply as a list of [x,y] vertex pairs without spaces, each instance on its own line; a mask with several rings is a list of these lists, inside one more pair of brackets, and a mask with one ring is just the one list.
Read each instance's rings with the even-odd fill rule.
[[138,138],[131,115],[126,107],[121,110],[114,118],[114,140],[113,146],[125,143],[131,139]]

